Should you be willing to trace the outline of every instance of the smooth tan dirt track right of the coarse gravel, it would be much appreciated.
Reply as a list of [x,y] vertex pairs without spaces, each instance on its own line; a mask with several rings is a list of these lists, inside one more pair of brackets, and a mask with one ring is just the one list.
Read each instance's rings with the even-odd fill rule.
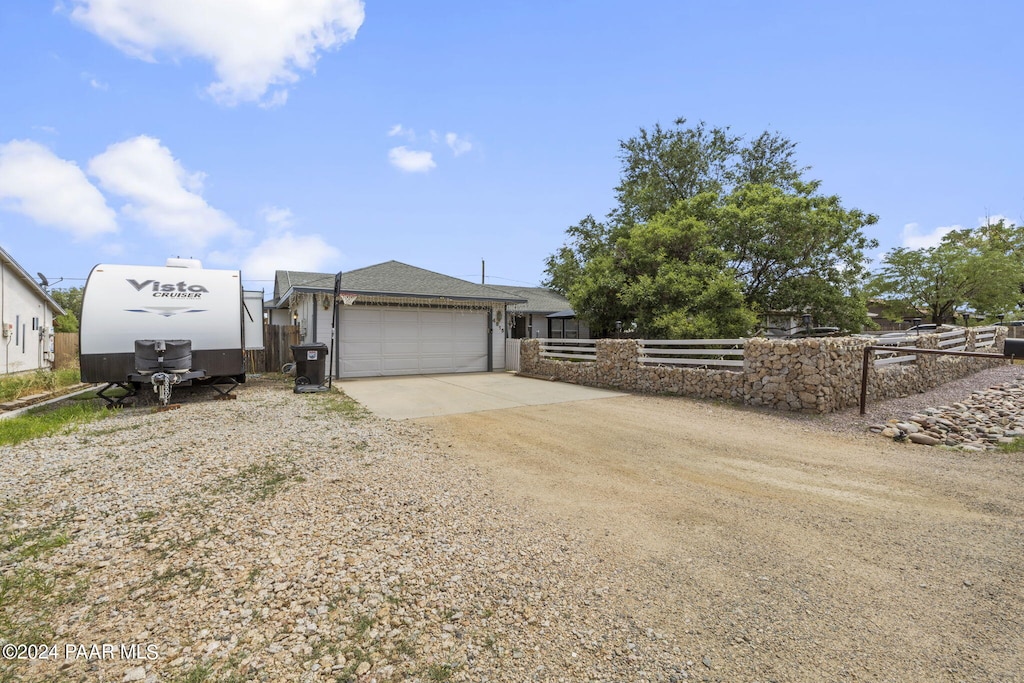
[[419,422],[587,538],[605,609],[698,680],[1024,680],[1020,455],[643,396]]

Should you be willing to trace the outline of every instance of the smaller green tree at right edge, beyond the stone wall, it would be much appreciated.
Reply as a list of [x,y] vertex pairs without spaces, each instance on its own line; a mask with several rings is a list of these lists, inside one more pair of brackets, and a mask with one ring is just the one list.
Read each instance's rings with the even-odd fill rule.
[[957,312],[985,315],[1017,309],[1024,298],[1024,227],[997,221],[953,230],[936,247],[894,249],[872,278],[870,293],[929,310],[936,324]]

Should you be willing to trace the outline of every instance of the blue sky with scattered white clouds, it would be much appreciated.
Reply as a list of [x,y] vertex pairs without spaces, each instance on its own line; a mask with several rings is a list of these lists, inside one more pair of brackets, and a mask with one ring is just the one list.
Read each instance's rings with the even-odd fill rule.
[[536,285],[618,140],[778,131],[882,250],[1024,222],[1016,2],[5,0],[0,245]]

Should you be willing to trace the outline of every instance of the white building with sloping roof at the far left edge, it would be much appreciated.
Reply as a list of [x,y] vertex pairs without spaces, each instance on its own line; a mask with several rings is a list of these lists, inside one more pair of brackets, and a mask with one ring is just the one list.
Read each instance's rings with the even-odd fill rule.
[[53,318],[63,312],[0,247],[0,374],[52,367]]

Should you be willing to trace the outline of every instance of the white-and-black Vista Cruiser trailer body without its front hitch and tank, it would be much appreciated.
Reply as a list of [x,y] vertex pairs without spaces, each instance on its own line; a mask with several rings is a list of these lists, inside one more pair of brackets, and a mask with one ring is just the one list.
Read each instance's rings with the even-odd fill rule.
[[79,333],[82,381],[127,382],[136,371],[137,340],[187,340],[193,369],[205,378],[245,381],[246,323],[259,321],[253,341],[262,347],[262,303],[247,314],[238,270],[171,262],[188,267],[100,264],[89,273]]

